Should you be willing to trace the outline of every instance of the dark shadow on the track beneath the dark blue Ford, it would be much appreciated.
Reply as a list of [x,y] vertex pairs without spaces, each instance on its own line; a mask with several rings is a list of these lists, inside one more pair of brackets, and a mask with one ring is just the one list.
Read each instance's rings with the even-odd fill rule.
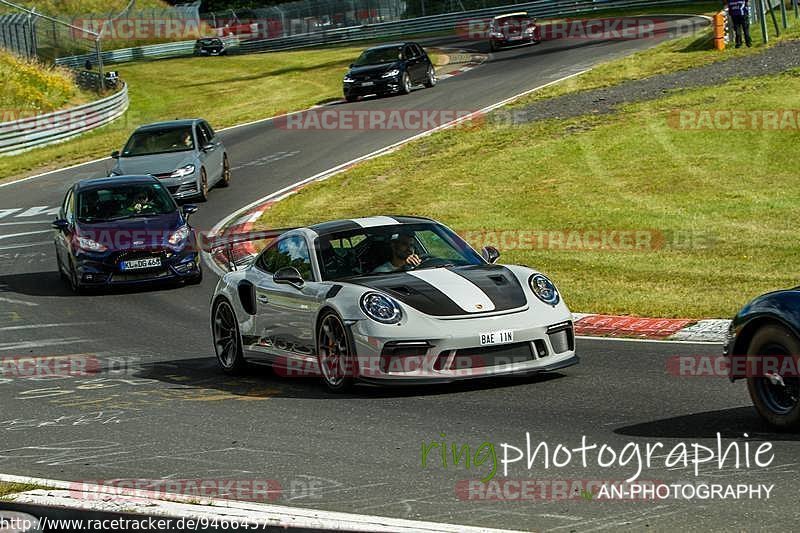
[[115,294],[135,294],[180,289],[180,282],[148,283],[129,287],[91,289],[84,295],[76,295],[58,275],[58,272],[30,272],[25,274],[0,275],[0,294],[10,293],[25,296],[64,296],[83,298],[84,296],[110,296]]

